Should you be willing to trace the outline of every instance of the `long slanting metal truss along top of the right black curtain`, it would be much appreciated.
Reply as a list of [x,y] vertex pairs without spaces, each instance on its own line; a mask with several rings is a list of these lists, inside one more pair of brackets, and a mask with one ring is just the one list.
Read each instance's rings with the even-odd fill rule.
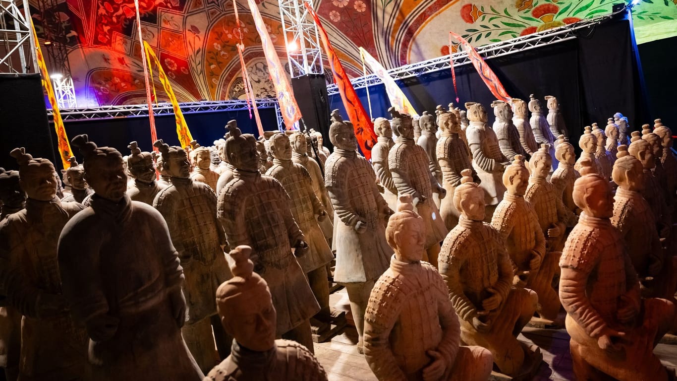
[[[623,8],[612,14],[598,16],[595,18],[591,18],[589,20],[582,20],[580,22],[576,22],[575,24],[549,29],[548,31],[532,33],[530,35],[517,37],[515,39],[509,39],[506,41],[492,43],[489,45],[483,45],[477,47],[477,52],[484,59],[496,58],[501,56],[507,56],[509,54],[526,52],[527,50],[536,49],[544,45],[552,45],[553,43],[560,43],[563,41],[576,39],[582,29],[596,26],[607,19],[614,18],[618,14],[627,12],[626,9],[627,8]],[[454,67],[471,63],[471,60],[468,57],[467,52],[454,53],[452,54],[452,58],[454,60]],[[429,73],[435,73],[443,70],[449,70],[450,68],[451,68],[450,56],[441,56],[433,58],[432,60],[426,60],[422,62],[416,62],[415,64],[399,66],[397,68],[389,70],[387,73],[393,79],[401,80],[410,77],[418,77],[420,75],[425,75]],[[383,83],[383,81],[381,81],[378,77],[376,77],[376,75],[370,74],[363,77],[351,79],[351,83],[353,83],[353,87],[355,89],[362,89],[364,87],[372,85],[380,85],[381,83]],[[328,95],[330,96],[336,95],[339,94],[339,89],[338,87],[336,87],[336,84],[332,84],[327,86],[327,92]]]

